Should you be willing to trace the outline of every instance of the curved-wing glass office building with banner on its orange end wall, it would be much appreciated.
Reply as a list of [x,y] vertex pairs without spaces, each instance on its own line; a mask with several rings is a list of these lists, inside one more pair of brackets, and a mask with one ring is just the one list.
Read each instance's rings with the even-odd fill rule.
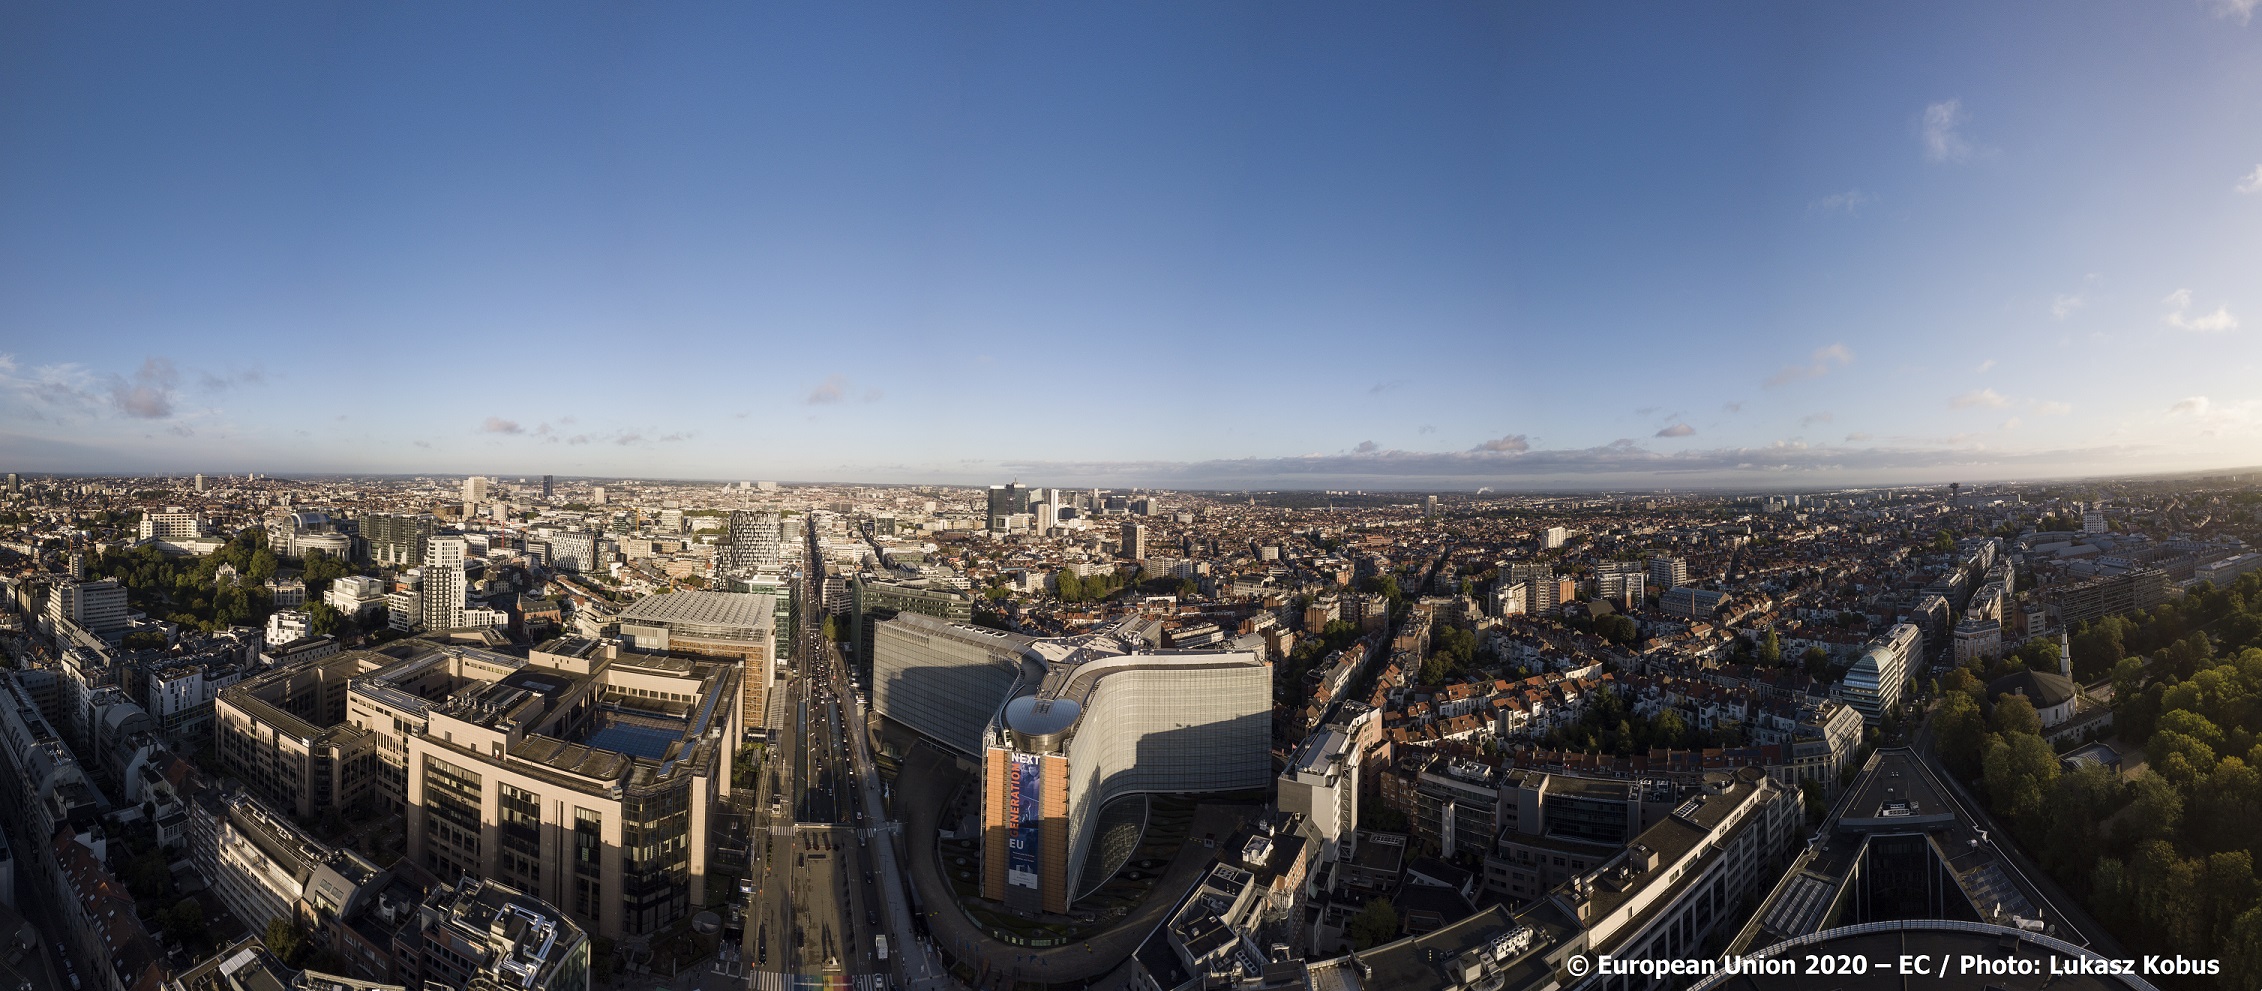
[[1147,794],[1271,783],[1271,665],[1156,649],[1160,624],[1029,638],[903,613],[873,629],[873,706],[982,767],[982,896],[1068,912],[1138,846]]

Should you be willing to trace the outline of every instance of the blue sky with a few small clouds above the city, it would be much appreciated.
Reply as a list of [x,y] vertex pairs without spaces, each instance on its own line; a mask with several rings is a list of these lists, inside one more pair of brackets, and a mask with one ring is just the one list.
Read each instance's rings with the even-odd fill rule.
[[0,462],[2262,464],[2255,14],[7,5]]

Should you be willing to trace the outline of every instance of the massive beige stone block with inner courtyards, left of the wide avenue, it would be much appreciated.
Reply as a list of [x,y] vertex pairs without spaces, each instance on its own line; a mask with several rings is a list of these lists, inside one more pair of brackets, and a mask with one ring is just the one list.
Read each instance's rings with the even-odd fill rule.
[[728,661],[409,643],[224,690],[217,749],[285,815],[398,810],[423,869],[495,878],[620,939],[706,905],[737,699]]

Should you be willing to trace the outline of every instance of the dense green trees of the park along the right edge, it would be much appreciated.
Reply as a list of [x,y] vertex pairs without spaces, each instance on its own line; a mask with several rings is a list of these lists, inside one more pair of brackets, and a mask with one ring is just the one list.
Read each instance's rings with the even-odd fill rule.
[[[2034,706],[2004,697],[1988,710],[1970,670],[1941,683],[1941,762],[2133,953],[2221,959],[2217,986],[2262,986],[2262,572],[2070,640],[2077,679],[2110,674],[2115,731],[2142,747],[2140,772],[2063,769]],[[2047,647],[1997,670],[2054,670]]]

